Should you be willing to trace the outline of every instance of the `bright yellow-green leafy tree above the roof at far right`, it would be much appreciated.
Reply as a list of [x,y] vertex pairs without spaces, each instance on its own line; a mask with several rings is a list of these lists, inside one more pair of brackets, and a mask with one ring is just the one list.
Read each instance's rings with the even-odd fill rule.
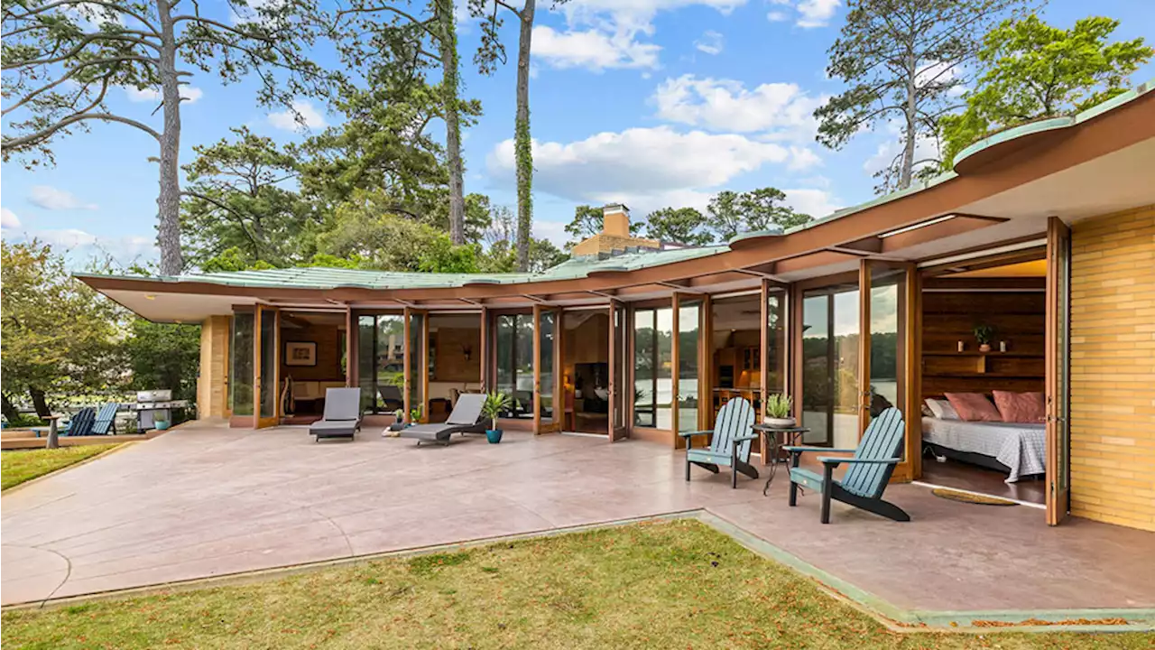
[[1128,76],[1155,51],[1142,39],[1111,43],[1119,21],[1102,16],[1059,29],[1031,14],[1005,21],[983,39],[981,76],[967,110],[942,118],[942,165],[992,130],[1071,115],[1130,87]]

